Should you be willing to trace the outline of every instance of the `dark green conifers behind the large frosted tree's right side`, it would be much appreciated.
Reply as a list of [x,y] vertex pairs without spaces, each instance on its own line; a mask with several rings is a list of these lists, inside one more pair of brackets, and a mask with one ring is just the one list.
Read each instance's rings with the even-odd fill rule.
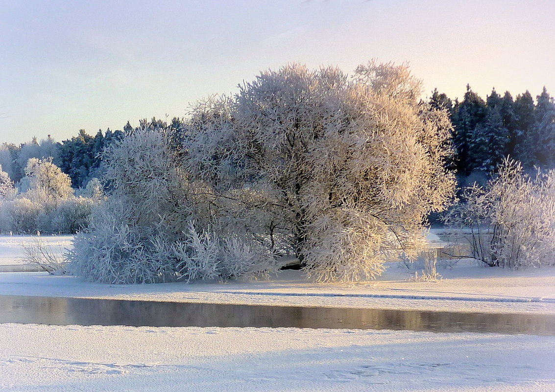
[[555,166],[555,101],[545,87],[535,103],[528,90],[513,99],[494,88],[483,99],[467,85],[462,101],[435,89],[430,104],[450,115],[456,150],[451,167],[460,176],[496,171],[505,157],[528,169]]

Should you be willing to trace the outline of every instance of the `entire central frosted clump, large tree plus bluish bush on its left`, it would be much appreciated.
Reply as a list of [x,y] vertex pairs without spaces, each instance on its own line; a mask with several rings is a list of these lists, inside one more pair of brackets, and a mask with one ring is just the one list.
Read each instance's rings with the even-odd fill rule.
[[455,186],[447,114],[420,93],[405,66],[292,64],[199,103],[182,129],[129,133],[104,152],[108,200],[75,239],[75,271],[229,278],[295,256],[319,281],[375,277],[420,250]]

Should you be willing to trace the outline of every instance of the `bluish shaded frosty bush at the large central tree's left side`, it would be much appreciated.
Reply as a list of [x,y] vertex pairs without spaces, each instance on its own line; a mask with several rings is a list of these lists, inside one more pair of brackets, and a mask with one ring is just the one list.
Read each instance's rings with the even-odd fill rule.
[[73,271],[125,284],[266,272],[255,248],[214,235],[209,190],[188,181],[168,140],[165,130],[145,127],[104,152],[109,197],[75,236],[67,254]]

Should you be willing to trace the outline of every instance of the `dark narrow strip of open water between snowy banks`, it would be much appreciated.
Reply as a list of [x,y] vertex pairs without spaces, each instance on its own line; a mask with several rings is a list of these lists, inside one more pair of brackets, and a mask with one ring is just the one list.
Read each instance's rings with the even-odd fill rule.
[[555,315],[0,296],[0,323],[407,329],[555,335]]

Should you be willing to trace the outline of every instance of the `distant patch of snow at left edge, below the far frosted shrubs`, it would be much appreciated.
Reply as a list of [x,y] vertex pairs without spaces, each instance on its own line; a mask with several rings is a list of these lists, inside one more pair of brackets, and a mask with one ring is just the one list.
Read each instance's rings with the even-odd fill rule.
[[[73,236],[41,236],[40,240],[56,256],[61,257],[72,247]],[[31,245],[37,236],[0,236],[0,265],[24,264],[24,245]]]

